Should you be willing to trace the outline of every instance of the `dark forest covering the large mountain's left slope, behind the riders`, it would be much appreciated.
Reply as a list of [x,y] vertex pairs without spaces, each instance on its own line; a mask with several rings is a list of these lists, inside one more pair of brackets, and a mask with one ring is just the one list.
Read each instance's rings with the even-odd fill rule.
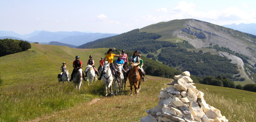
[[168,41],[156,41],[162,37],[160,34],[139,32],[139,29],[131,30],[127,33],[122,33],[117,36],[97,39],[93,42],[88,42],[77,48],[106,48],[115,47],[125,49],[127,51],[140,50],[142,52],[154,52],[162,47],[185,47],[194,48],[187,41],[172,43]]

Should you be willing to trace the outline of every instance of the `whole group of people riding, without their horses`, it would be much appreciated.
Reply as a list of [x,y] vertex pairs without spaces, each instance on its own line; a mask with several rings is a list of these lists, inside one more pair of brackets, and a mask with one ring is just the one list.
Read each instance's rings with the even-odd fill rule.
[[[92,55],[89,56],[90,59],[87,61],[87,65],[92,65],[92,67],[93,67],[94,71],[96,72],[96,74],[97,74],[98,76],[100,76],[100,77],[98,78],[98,80],[101,80],[101,79],[102,79],[102,76],[103,76],[103,70],[104,70],[103,63],[104,63],[104,61],[109,61],[109,63],[110,63],[110,68],[111,68],[112,70],[114,70],[114,72],[115,72],[115,78],[117,79],[118,82],[120,82],[120,81],[119,81],[119,79],[118,79],[118,74],[116,73],[116,70],[115,70],[115,69],[117,69],[118,64],[121,64],[121,65],[122,65],[122,71],[123,71],[123,73],[124,73],[124,80],[125,80],[125,81],[127,80],[128,73],[129,73],[129,71],[130,71],[130,69],[131,69],[131,67],[132,67],[132,66],[129,67],[129,65],[128,65],[128,64],[129,64],[129,61],[128,61],[127,54],[125,54],[125,51],[124,51],[124,50],[122,50],[122,54],[120,53],[119,55],[115,55],[115,54],[113,54],[113,53],[114,53],[114,49],[110,48],[110,49],[107,51],[107,55],[105,56],[105,58],[104,58],[104,59],[103,59],[103,57],[101,58],[101,60],[100,60],[100,66],[98,67],[98,70],[100,70],[101,67],[102,67],[102,72],[101,72],[101,74],[98,73],[98,70],[97,70],[97,69],[95,68],[95,66],[94,66],[94,61],[92,60]],[[139,53],[138,51],[134,51],[134,52],[133,52],[133,56],[131,57],[131,60],[130,60],[130,61],[133,62],[134,64],[135,64],[135,63],[138,63],[138,64],[139,64],[139,66],[140,66],[140,68],[139,68],[139,73],[140,73],[140,75],[142,76],[141,79],[142,79],[143,81],[145,81],[145,72],[144,72],[144,70],[143,70],[143,60],[141,59],[141,55],[138,54],[138,53]],[[114,64],[113,64],[113,58],[114,58],[114,57],[118,57],[118,59],[115,61],[116,66],[114,66]],[[79,57],[79,56],[76,56],[75,58],[76,58],[76,60],[73,62],[73,67],[74,67],[74,69],[73,69],[73,71],[72,71],[70,81],[73,80],[76,69],[78,69],[78,67],[82,67],[82,62],[79,60],[80,57]],[[64,72],[65,70],[67,70],[66,65],[65,65],[66,63],[63,62],[62,64],[63,64],[63,65],[61,66],[61,70],[62,70],[61,72]],[[116,67],[116,68],[115,68],[115,67]],[[125,69],[127,69],[127,70],[125,70]],[[62,75],[62,73],[61,73],[61,75]],[[87,75],[87,73],[85,72],[85,76],[84,76],[84,72],[83,72],[82,76],[83,76],[84,79],[85,79],[86,75]]]

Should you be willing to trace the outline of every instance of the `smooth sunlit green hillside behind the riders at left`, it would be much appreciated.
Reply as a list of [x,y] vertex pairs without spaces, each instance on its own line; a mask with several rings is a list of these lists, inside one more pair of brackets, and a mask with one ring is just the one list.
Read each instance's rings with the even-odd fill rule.
[[[31,49],[0,57],[0,72],[4,87],[13,85],[43,84],[43,81],[57,82],[62,62],[66,62],[70,74],[75,56],[80,56],[83,66],[87,66],[89,55],[95,66],[99,66],[106,48],[75,49],[66,46],[31,44]],[[46,52],[46,54],[44,54]]]

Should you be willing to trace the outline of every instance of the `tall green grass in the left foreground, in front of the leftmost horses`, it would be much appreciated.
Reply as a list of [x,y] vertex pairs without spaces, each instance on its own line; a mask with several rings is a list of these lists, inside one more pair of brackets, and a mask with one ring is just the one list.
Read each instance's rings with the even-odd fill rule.
[[83,85],[74,90],[72,83],[32,86],[14,92],[0,93],[0,121],[26,121],[43,114],[58,112],[83,102],[89,102],[103,94],[103,84]]

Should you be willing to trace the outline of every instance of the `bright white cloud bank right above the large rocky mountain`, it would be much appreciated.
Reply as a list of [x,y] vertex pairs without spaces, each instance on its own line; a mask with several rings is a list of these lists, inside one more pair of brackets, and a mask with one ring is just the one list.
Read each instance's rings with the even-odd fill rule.
[[178,4],[171,9],[169,13],[164,16],[143,15],[134,20],[135,23],[154,24],[173,19],[199,19],[213,24],[232,24],[232,23],[255,23],[256,10],[245,11],[238,7],[228,7],[222,10],[198,11],[195,4],[186,3],[185,1],[178,2]]

